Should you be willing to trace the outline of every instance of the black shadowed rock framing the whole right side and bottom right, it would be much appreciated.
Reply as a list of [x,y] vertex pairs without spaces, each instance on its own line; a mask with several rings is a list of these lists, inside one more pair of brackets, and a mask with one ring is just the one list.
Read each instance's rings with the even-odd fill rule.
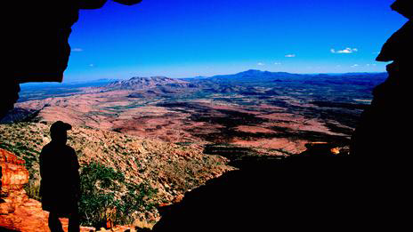
[[352,156],[314,156],[322,151],[309,150],[282,160],[250,163],[188,193],[181,204],[164,210],[154,231],[398,230],[406,226],[409,220],[397,208],[411,197],[406,146],[411,143],[407,107],[412,88],[408,84],[412,4],[399,0],[392,6],[409,22],[377,57],[393,63],[352,136]]

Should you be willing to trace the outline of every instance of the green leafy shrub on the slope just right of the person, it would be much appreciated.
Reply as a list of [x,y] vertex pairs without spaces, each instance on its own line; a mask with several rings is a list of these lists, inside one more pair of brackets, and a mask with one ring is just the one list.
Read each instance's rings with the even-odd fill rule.
[[80,174],[81,196],[79,212],[85,226],[101,228],[108,219],[116,224],[131,224],[136,212],[154,209],[157,189],[147,183],[134,184],[102,164],[87,164]]

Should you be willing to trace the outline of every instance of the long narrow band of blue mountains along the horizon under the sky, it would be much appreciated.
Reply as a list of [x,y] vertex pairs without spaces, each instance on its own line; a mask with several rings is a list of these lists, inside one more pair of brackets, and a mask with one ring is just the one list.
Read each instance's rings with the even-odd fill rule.
[[[182,92],[183,89],[217,90],[239,84],[273,84],[296,82],[305,84],[377,84],[385,80],[386,73],[345,73],[345,74],[292,74],[287,72],[269,72],[250,69],[231,75],[196,76],[192,78],[170,78],[166,76],[132,77],[129,80],[115,81],[104,86],[109,90],[148,91],[161,89],[162,92]],[[231,86],[228,86],[231,84]],[[228,92],[228,90],[218,91]]]

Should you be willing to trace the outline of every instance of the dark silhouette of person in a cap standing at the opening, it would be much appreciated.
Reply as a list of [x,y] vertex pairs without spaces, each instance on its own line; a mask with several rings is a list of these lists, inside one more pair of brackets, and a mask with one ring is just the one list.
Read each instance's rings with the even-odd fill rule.
[[80,196],[79,163],[66,141],[70,124],[58,121],[50,127],[52,141],[40,153],[40,196],[43,210],[50,212],[49,228],[63,232],[59,218],[69,218],[69,232],[80,230],[77,203]]

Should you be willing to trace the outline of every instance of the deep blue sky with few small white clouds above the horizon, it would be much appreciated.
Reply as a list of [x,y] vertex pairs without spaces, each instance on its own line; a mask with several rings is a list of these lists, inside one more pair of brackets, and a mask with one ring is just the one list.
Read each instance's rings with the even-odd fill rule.
[[393,0],[111,1],[80,12],[65,81],[213,76],[247,69],[381,72],[385,40],[407,21]]

